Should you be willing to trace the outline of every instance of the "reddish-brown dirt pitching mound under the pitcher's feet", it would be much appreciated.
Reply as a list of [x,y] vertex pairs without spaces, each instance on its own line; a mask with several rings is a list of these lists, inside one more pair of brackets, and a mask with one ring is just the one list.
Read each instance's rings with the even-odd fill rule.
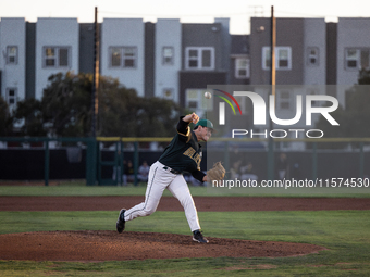
[[178,257],[293,256],[317,253],[322,247],[236,239],[208,238],[208,244],[192,236],[116,231],[40,231],[0,235],[0,260],[124,261]]

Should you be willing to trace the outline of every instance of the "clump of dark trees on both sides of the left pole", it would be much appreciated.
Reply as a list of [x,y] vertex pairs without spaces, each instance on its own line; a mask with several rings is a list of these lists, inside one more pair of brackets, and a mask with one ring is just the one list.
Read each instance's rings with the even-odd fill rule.
[[[49,77],[42,100],[18,102],[16,118],[25,119],[23,135],[90,136],[91,74],[54,74]],[[98,136],[172,136],[182,111],[173,101],[138,97],[118,79],[100,77]]]

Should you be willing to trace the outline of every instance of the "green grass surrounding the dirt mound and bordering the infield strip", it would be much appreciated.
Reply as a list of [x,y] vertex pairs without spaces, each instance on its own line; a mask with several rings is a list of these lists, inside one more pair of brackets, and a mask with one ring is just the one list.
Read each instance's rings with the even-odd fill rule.
[[[126,190],[127,189],[127,190]],[[145,187],[0,187],[0,196],[141,196]],[[107,193],[109,192],[109,193]],[[205,188],[192,188],[207,194]],[[124,194],[126,194],[124,193]],[[328,196],[326,196],[328,197]],[[0,276],[369,276],[369,211],[200,212],[207,237],[305,242],[328,251],[280,259],[177,259],[101,263],[0,261]],[[0,212],[0,234],[114,230],[116,212]],[[156,212],[128,231],[190,235],[183,212]],[[0,245],[1,247],[1,245]]]

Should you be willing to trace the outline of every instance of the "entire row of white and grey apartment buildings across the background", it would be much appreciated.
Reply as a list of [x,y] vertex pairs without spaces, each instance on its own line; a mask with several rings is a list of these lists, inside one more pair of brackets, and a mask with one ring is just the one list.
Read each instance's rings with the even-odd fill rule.
[[[100,74],[139,96],[202,112],[207,85],[271,83],[270,27],[269,17],[252,17],[250,35],[242,36],[230,35],[229,18],[209,24],[104,18],[99,24]],[[345,105],[345,89],[357,83],[359,68],[369,67],[369,32],[370,18],[276,18],[276,85],[285,86],[276,91],[276,113],[292,118],[298,93],[329,93]],[[14,109],[25,98],[40,99],[51,74],[92,72],[94,24],[1,18],[0,50],[0,92]],[[328,91],[325,85],[342,89]]]

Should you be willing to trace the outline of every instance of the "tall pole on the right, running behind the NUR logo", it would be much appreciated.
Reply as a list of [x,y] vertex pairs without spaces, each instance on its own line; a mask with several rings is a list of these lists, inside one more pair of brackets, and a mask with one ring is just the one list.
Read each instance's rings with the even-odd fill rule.
[[[271,93],[275,97],[275,85],[276,85],[276,64],[275,64],[275,46],[276,46],[276,20],[274,16],[273,5],[271,5],[271,46],[270,46],[270,68],[271,68]],[[275,97],[276,98],[276,97]],[[274,101],[274,105],[276,99]],[[270,117],[270,130],[273,128],[272,119]],[[269,136],[269,153],[268,153],[268,178],[273,180],[274,178],[274,141]]]

